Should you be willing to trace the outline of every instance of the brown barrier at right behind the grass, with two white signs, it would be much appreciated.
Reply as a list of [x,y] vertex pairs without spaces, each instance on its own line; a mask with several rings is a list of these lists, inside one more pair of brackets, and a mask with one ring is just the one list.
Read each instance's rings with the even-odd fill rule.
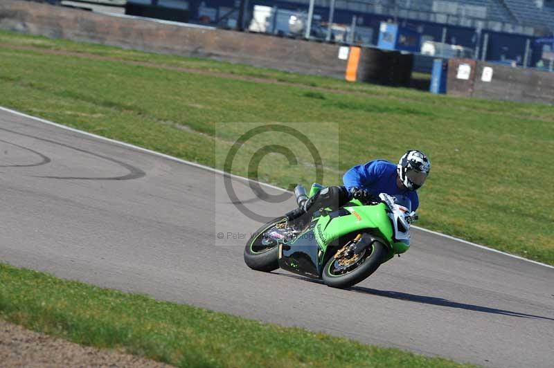
[[[471,68],[467,80],[458,75],[463,64]],[[468,59],[450,59],[448,69],[448,94],[554,104],[554,73]]]

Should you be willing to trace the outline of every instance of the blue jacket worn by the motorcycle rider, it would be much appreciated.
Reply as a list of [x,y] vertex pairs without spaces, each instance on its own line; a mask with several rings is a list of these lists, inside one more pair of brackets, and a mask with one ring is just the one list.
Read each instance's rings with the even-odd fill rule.
[[353,187],[366,189],[374,196],[379,193],[404,194],[411,201],[411,210],[415,211],[420,205],[418,193],[415,190],[399,188],[396,183],[396,165],[386,160],[373,160],[364,165],[357,165],[348,170],[343,176],[344,186],[350,192]]

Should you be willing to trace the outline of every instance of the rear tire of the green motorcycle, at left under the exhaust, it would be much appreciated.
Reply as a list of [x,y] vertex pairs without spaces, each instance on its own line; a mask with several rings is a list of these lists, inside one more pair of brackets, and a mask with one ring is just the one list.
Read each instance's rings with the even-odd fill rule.
[[256,230],[250,239],[248,239],[247,245],[244,248],[244,263],[246,263],[247,266],[253,270],[262,272],[271,272],[279,268],[279,247],[276,244],[273,247],[264,248],[260,238],[267,230],[283,221],[286,221],[285,217],[278,217],[277,219],[269,221]]

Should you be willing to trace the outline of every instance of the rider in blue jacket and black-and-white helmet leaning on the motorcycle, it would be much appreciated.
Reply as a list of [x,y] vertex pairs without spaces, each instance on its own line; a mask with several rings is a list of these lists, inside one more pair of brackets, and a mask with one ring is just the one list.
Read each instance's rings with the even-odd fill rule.
[[362,203],[378,201],[380,193],[391,196],[404,194],[411,201],[412,210],[419,207],[416,192],[425,183],[431,163],[429,158],[415,149],[410,149],[395,165],[387,160],[373,160],[356,165],[343,176],[344,186],[325,187],[305,201],[304,205],[285,214],[289,221],[298,219],[301,223],[312,218],[321,208],[336,210],[350,199]]

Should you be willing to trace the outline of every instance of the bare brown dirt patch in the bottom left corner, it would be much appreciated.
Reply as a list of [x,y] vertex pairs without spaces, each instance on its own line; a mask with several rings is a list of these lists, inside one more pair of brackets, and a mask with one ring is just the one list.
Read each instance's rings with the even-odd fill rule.
[[116,350],[83,347],[0,320],[2,367],[172,367]]

